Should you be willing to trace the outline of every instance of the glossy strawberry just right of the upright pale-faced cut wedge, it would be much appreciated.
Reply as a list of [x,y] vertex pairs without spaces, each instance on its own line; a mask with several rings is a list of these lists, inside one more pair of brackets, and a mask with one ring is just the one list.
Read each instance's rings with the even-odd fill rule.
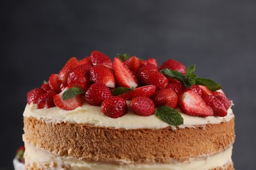
[[165,88],[168,84],[168,79],[160,73],[159,71],[150,71],[148,69],[140,72],[139,81],[143,84],[150,85],[153,84],[156,86],[156,90]]

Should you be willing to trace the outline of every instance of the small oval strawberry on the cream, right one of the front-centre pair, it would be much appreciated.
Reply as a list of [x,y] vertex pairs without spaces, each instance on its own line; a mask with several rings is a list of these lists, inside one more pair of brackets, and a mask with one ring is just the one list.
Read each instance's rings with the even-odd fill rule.
[[135,97],[130,103],[131,110],[140,116],[150,116],[155,112],[155,105],[148,97]]

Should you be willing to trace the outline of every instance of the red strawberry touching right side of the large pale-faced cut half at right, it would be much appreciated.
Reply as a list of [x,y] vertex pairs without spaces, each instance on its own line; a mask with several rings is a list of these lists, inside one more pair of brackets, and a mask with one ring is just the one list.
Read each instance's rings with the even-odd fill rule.
[[214,95],[203,95],[203,101],[213,109],[214,116],[226,116],[227,111],[223,103]]

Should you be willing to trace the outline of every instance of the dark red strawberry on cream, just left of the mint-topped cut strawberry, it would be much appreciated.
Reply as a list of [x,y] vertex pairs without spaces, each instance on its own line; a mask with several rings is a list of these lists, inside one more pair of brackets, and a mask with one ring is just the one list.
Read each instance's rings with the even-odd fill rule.
[[49,90],[47,93],[43,93],[42,95],[39,96],[37,99],[37,108],[38,109],[43,109],[43,108],[51,108],[54,107],[54,101],[53,101],[53,96],[56,95],[57,93],[54,90]]

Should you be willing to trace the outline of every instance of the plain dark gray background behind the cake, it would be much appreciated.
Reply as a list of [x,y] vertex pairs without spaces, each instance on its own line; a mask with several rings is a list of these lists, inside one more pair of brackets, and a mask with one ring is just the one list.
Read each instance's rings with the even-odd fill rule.
[[235,103],[236,169],[256,169],[256,1],[1,1],[1,158],[22,144],[26,93],[92,50],[197,64]]

